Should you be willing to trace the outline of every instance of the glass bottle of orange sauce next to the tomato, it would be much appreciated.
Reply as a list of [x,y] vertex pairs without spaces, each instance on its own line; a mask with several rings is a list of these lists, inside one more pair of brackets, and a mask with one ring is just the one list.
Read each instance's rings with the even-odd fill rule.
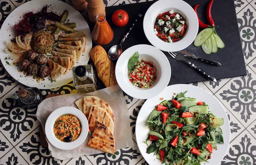
[[97,21],[93,29],[93,41],[99,45],[110,43],[114,37],[113,30],[109,26],[104,14],[97,15]]

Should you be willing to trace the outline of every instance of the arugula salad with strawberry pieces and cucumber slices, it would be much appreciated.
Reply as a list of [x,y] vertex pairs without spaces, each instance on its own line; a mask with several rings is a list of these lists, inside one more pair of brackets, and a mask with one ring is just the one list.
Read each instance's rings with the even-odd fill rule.
[[[187,92],[187,91],[186,91]],[[224,143],[223,118],[214,116],[209,106],[185,93],[158,104],[148,118],[146,153],[154,153],[163,164],[201,165],[211,159],[213,149]]]

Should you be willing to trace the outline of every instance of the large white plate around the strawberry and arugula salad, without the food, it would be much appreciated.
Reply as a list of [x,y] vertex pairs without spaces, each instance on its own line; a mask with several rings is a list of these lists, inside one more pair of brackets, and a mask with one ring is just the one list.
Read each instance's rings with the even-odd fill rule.
[[137,144],[140,149],[140,153],[150,165],[162,165],[162,162],[157,159],[153,153],[146,153],[147,145],[143,143],[143,141],[148,138],[148,116],[151,111],[154,110],[155,106],[161,102],[160,98],[164,98],[164,100],[171,100],[173,93],[185,92],[186,90],[188,91],[185,95],[186,97],[192,97],[196,98],[198,101],[204,101],[209,105],[209,110],[214,115],[224,119],[224,124],[221,126],[224,144],[218,144],[218,150],[213,149],[211,154],[212,158],[208,160],[209,163],[203,162],[202,164],[218,165],[226,155],[230,143],[230,124],[224,107],[214,96],[212,96],[212,94],[202,88],[187,84],[177,84],[166,87],[166,89],[158,96],[145,101],[137,117],[135,128]]

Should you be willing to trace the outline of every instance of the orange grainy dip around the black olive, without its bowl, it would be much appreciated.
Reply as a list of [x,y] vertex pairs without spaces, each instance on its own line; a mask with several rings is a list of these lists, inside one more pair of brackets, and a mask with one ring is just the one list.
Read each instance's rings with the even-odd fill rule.
[[78,138],[81,132],[81,124],[79,119],[71,114],[64,114],[58,117],[53,125],[55,137],[65,142],[64,138],[71,136],[74,141]]

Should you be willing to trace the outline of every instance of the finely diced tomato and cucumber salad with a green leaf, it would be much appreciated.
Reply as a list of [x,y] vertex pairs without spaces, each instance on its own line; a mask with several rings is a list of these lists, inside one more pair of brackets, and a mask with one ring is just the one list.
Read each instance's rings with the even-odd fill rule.
[[154,63],[147,62],[144,58],[139,60],[139,52],[136,52],[128,61],[129,81],[136,87],[148,88],[157,78],[157,69]]

